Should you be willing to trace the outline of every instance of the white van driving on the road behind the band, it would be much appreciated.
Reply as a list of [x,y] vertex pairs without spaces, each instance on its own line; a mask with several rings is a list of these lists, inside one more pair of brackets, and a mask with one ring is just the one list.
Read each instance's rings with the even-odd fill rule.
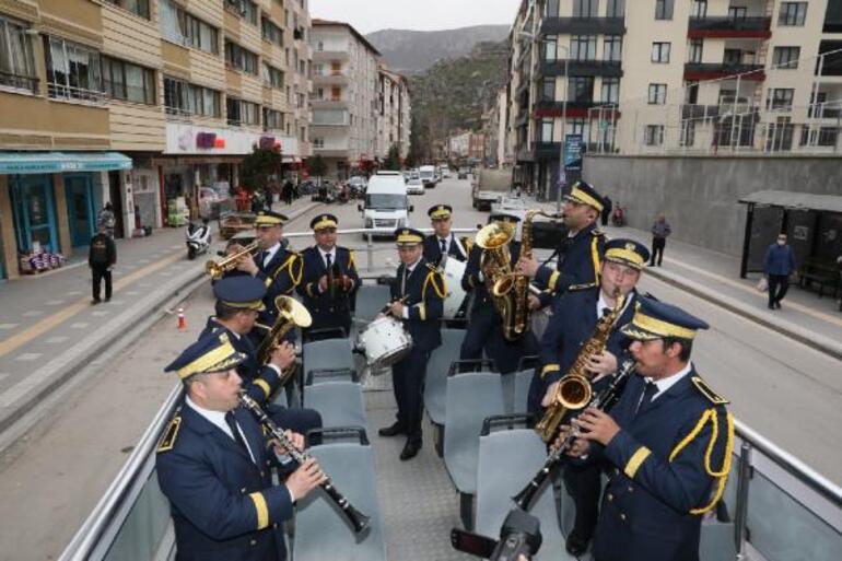
[[356,208],[363,213],[364,226],[377,230],[378,235],[391,235],[395,230],[409,226],[412,206],[404,176],[399,173],[371,176],[365,189],[365,204]]

